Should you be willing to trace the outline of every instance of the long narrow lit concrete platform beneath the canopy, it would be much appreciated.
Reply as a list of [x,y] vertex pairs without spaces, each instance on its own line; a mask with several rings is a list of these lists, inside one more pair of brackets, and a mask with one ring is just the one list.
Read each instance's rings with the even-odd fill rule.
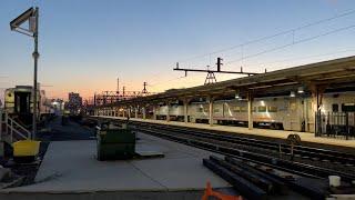
[[[100,116],[100,118],[122,119],[122,120],[126,119],[121,117],[103,117],[103,116]],[[248,130],[247,128],[243,128],[243,127],[230,127],[230,126],[219,126],[219,124],[210,126],[204,123],[190,123],[190,122],[185,123],[185,122],[179,122],[179,121],[168,122],[164,120],[136,119],[136,118],[130,118],[130,120],[144,121],[150,123],[190,127],[190,128],[206,129],[206,130],[226,131],[226,132],[243,133],[243,134],[251,134],[251,136],[257,136],[257,137],[276,138],[276,139],[286,139],[288,134],[296,133],[301,137],[301,140],[304,142],[354,148],[354,152],[355,152],[355,140],[320,138],[320,137],[314,137],[314,133],[311,133],[311,132],[283,131],[283,130],[256,129],[256,128]]]

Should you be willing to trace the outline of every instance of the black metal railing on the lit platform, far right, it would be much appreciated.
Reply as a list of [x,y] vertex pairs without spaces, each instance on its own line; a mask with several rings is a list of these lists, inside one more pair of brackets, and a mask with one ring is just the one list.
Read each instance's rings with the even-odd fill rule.
[[355,112],[315,113],[316,136],[355,138]]

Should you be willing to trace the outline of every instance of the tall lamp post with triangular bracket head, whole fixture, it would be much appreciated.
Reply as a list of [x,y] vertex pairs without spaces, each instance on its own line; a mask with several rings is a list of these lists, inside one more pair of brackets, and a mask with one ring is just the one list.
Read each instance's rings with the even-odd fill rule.
[[[32,117],[32,139],[36,139],[37,133],[37,111],[38,111],[38,102],[37,102],[37,68],[38,68],[38,21],[39,20],[39,8],[30,8],[27,11],[24,11],[22,14],[17,17],[14,20],[10,22],[10,29],[12,31],[20,32],[22,34],[29,36],[34,39],[34,51],[32,53],[33,60],[34,60],[34,70],[33,70],[33,117]],[[22,28],[21,24],[26,21],[29,22],[28,29]]]

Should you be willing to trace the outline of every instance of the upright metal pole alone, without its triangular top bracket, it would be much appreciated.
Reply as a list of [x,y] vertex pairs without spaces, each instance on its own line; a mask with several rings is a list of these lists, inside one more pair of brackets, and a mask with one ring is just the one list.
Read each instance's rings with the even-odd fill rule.
[[33,59],[34,59],[34,71],[33,71],[33,119],[32,119],[32,139],[36,139],[36,133],[37,133],[37,66],[38,66],[38,58],[39,58],[39,52],[38,52],[38,18],[39,18],[39,8],[36,7],[36,30],[33,33],[34,38],[34,51],[33,51]]

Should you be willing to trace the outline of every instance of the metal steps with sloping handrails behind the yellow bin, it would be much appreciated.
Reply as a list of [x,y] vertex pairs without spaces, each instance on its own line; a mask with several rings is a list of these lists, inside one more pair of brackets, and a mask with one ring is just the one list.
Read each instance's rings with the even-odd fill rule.
[[0,140],[13,143],[19,140],[31,139],[31,132],[10,118],[8,112],[0,108]]

